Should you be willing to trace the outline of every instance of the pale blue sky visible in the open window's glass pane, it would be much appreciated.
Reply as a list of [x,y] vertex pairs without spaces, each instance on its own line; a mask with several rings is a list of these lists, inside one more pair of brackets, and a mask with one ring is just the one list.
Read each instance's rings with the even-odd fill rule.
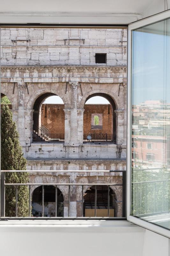
[[[162,26],[163,21],[159,24],[163,30]],[[133,52],[133,104],[145,100],[170,103],[170,36],[135,30]]]

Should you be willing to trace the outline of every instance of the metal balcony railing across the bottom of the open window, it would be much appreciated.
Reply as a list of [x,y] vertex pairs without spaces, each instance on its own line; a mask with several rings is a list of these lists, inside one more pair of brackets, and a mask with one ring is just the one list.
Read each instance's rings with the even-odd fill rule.
[[[28,172],[28,173],[34,173],[34,175],[39,175],[40,173],[45,173],[45,175],[47,175],[47,173],[67,173],[67,172],[78,172],[78,174],[83,173],[85,174],[86,172],[96,172],[95,175],[99,175],[99,173],[101,172],[114,172],[114,173],[119,173],[118,175],[120,175],[120,173],[122,174],[122,183],[5,183],[5,173],[6,172]],[[52,175],[52,174],[51,174]],[[53,174],[54,175],[54,174]],[[115,176],[115,174],[113,175]],[[9,186],[13,186],[15,187],[15,217],[8,217],[5,216],[5,188],[9,187]],[[29,190],[29,216],[28,217],[18,217],[18,187],[19,186],[27,186],[28,190]],[[32,186],[42,186],[42,217],[33,217],[32,213],[31,213],[31,207],[32,207],[32,198],[31,198],[31,188]],[[44,187],[45,186],[54,186],[55,187],[55,217],[44,217]],[[60,171],[38,171],[38,170],[34,170],[34,171],[27,171],[27,170],[23,170],[23,171],[18,171],[18,170],[6,170],[6,171],[1,171],[1,202],[0,202],[0,207],[1,207],[1,211],[0,211],[0,220],[4,220],[4,219],[12,219],[12,218],[17,218],[17,219],[67,219],[67,217],[58,217],[57,216],[57,189],[58,187],[61,186],[66,186],[68,187],[68,217],[70,219],[91,219],[93,217],[84,217],[84,193],[87,190],[87,187],[94,187],[95,188],[95,196],[94,196],[94,218],[96,219],[103,219],[103,218],[107,218],[107,219],[126,219],[126,171],[124,170],[120,170],[120,171],[109,171],[109,170],[102,170],[102,171],[79,171],[79,170],[75,170],[75,171],[67,171],[67,170],[60,170]],[[79,189],[81,189],[81,216],[80,217],[70,217],[70,197],[72,196],[72,188],[74,186],[79,186]],[[98,186],[107,186],[107,217],[96,217],[97,214],[97,190],[98,190]],[[109,217],[110,216],[110,188],[114,186],[114,187],[122,187],[122,216],[123,217]],[[34,187],[35,189],[35,187]],[[119,202],[120,203],[120,202]],[[93,209],[92,208],[92,209]]]

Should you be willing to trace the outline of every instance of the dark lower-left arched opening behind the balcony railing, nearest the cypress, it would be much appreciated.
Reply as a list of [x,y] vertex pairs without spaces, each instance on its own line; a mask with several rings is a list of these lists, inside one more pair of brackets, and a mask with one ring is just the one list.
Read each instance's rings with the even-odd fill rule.
[[[44,214],[42,198],[44,197]],[[56,205],[57,199],[57,205]],[[39,186],[35,188],[32,196],[32,215],[33,217],[63,217],[64,216],[64,198],[59,188],[55,186]],[[43,215],[43,216],[42,216]]]

